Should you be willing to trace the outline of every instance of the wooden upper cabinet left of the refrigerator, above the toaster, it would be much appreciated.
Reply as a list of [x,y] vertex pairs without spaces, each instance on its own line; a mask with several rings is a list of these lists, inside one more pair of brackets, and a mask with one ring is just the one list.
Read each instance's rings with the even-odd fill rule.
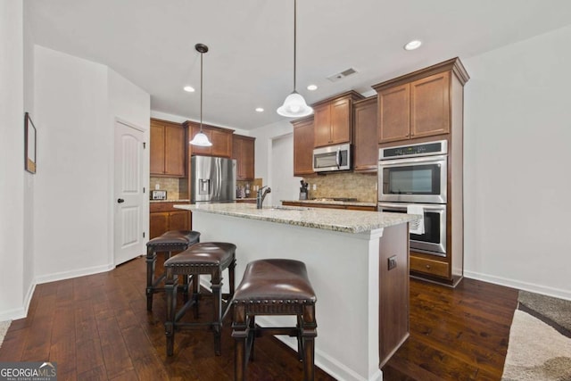
[[151,120],[151,176],[186,176],[186,130],[178,123]]

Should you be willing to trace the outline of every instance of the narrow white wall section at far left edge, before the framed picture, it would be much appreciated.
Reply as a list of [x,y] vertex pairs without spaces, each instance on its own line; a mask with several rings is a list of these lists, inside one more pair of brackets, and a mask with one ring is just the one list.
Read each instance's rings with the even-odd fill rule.
[[0,2],[0,320],[21,317],[24,240],[24,68],[21,1]]

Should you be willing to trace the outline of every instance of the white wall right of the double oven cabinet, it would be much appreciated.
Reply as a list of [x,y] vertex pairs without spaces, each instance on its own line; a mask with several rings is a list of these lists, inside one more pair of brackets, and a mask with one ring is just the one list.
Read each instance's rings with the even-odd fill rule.
[[465,275],[571,299],[571,27],[463,60]]

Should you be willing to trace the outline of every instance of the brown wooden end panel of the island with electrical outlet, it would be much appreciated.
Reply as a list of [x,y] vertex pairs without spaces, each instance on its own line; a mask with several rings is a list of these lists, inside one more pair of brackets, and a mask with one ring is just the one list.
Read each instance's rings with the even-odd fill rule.
[[409,337],[408,237],[409,225],[396,225],[385,228],[379,243],[380,368]]

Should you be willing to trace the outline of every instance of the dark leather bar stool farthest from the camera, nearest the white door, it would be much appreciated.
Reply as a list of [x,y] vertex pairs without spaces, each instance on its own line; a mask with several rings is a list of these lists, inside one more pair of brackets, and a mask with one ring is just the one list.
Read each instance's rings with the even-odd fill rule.
[[[153,294],[164,290],[159,286],[165,278],[163,272],[160,277],[154,277],[157,253],[165,253],[165,261],[173,252],[182,252],[191,244],[200,242],[200,233],[194,230],[170,230],[161,236],[156,236],[146,244],[146,309],[153,310]],[[185,282],[187,285],[187,282]]]

